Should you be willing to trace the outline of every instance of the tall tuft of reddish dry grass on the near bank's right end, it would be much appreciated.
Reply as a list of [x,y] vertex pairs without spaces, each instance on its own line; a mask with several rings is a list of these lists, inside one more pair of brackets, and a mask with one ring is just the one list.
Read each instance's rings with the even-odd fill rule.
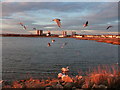
[[91,82],[94,85],[105,85],[107,87],[111,87],[115,85],[120,78],[118,65],[98,66],[97,68],[94,68],[87,77],[89,77],[89,79],[87,79],[88,81],[86,82]]

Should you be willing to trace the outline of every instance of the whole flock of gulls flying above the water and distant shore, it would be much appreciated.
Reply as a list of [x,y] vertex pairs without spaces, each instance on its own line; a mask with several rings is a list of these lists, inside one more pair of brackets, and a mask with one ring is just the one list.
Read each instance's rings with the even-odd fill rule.
[[[59,27],[59,28],[61,28],[61,20],[60,19],[53,19],[52,21],[55,21],[56,23],[57,23],[57,26]],[[23,27],[23,29],[27,29],[27,27],[23,24],[23,23],[19,23],[22,27]],[[85,22],[85,24],[83,24],[83,27],[87,27],[88,26],[88,21],[86,21]],[[113,26],[108,26],[107,28],[106,28],[106,30],[108,30],[109,28],[111,28],[111,27],[113,27]],[[37,30],[36,28],[33,28],[33,30]],[[55,40],[52,40],[52,43],[53,42],[55,42]],[[67,45],[67,43],[63,43],[62,44],[62,46],[61,46],[61,48],[63,48],[65,45]],[[48,47],[50,47],[51,46],[51,44],[50,43],[48,43]]]

